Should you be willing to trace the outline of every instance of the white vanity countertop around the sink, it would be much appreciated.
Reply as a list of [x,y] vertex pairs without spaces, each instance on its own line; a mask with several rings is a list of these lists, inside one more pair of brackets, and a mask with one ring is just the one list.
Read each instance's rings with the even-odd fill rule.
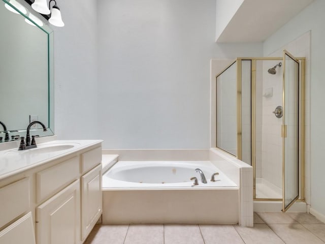
[[[0,180],[8,176],[34,168],[49,161],[67,156],[103,140],[54,140],[38,144],[37,148],[18,151],[17,148],[0,151]],[[71,148],[64,148],[70,145]],[[47,147],[63,146],[61,150],[48,151]],[[40,150],[40,149],[45,150]],[[39,152],[37,152],[39,150]],[[41,153],[40,153],[41,152]]]

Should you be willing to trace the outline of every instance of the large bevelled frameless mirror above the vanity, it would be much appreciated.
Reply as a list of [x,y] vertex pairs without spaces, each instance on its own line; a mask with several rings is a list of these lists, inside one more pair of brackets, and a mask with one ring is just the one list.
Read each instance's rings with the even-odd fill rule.
[[[33,120],[48,131],[35,125],[30,134],[53,135],[53,31],[23,1],[0,1],[0,16],[0,121],[9,140],[25,136]],[[1,125],[0,137],[5,141]]]

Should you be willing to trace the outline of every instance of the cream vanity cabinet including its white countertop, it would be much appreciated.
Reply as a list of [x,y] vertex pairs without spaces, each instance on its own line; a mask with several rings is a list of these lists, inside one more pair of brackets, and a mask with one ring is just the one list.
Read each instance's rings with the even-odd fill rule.
[[102,214],[101,143],[0,151],[0,243],[83,243]]

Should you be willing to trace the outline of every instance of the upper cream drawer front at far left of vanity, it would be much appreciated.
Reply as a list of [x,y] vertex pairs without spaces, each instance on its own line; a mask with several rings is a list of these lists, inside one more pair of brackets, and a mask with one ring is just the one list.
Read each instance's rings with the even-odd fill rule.
[[29,208],[29,177],[0,188],[0,227]]

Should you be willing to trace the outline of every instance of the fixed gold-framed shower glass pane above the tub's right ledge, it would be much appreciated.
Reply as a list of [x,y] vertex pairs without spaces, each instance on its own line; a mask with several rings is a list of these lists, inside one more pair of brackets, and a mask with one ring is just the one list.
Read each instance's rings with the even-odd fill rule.
[[217,147],[237,156],[236,62],[217,76]]

